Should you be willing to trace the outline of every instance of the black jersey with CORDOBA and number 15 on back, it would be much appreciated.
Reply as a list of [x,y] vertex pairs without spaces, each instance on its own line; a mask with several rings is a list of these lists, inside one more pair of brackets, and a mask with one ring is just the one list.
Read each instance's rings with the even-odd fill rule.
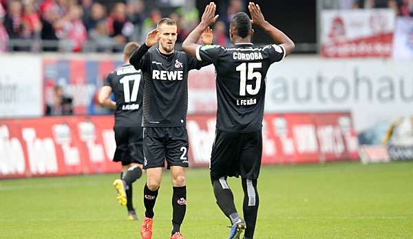
[[258,132],[262,129],[266,73],[284,59],[281,45],[254,46],[238,43],[228,48],[202,45],[196,57],[215,65],[217,127],[226,132]]

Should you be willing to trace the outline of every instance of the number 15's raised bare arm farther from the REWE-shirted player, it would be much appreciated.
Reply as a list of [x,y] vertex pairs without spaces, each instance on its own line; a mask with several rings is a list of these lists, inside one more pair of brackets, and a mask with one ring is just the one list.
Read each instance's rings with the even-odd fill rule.
[[286,50],[286,56],[293,52],[295,48],[294,42],[291,41],[291,39],[287,37],[284,32],[275,28],[273,25],[271,25],[271,23],[268,23],[268,21],[265,21],[264,15],[262,14],[261,8],[260,6],[258,6],[258,4],[250,2],[248,4],[248,10],[251,12],[252,23],[266,31],[275,41],[275,43],[282,45]]

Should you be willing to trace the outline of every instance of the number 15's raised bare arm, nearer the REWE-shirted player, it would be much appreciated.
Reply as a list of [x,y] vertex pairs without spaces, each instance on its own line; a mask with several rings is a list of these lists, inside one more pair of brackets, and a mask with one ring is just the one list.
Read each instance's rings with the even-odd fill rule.
[[[196,48],[198,48],[198,39],[202,39],[202,43],[205,44],[204,37],[207,37],[209,35],[209,25],[214,23],[219,15],[215,16],[215,10],[217,6],[215,3],[211,2],[207,5],[205,8],[204,14],[202,14],[201,22],[198,24],[198,26],[188,35],[187,39],[182,43],[182,49],[184,52],[187,52],[187,54],[190,54],[191,56],[195,56]],[[211,32],[212,35],[212,32]],[[212,36],[211,36],[211,43],[212,43]],[[205,44],[209,45],[209,44]]]

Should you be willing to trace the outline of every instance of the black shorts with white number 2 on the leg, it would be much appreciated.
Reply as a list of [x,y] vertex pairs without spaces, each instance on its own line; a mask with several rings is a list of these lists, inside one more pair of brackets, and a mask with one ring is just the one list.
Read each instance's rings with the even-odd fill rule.
[[185,127],[144,127],[143,169],[171,166],[188,167],[188,134]]

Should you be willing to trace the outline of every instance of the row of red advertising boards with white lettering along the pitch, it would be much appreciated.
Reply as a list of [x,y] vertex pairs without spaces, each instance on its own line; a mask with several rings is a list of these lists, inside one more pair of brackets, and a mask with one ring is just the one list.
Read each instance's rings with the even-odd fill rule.
[[[0,178],[120,172],[113,116],[0,120]],[[189,162],[207,167],[215,136],[213,114],[189,115]],[[266,114],[263,165],[355,160],[350,114]]]

